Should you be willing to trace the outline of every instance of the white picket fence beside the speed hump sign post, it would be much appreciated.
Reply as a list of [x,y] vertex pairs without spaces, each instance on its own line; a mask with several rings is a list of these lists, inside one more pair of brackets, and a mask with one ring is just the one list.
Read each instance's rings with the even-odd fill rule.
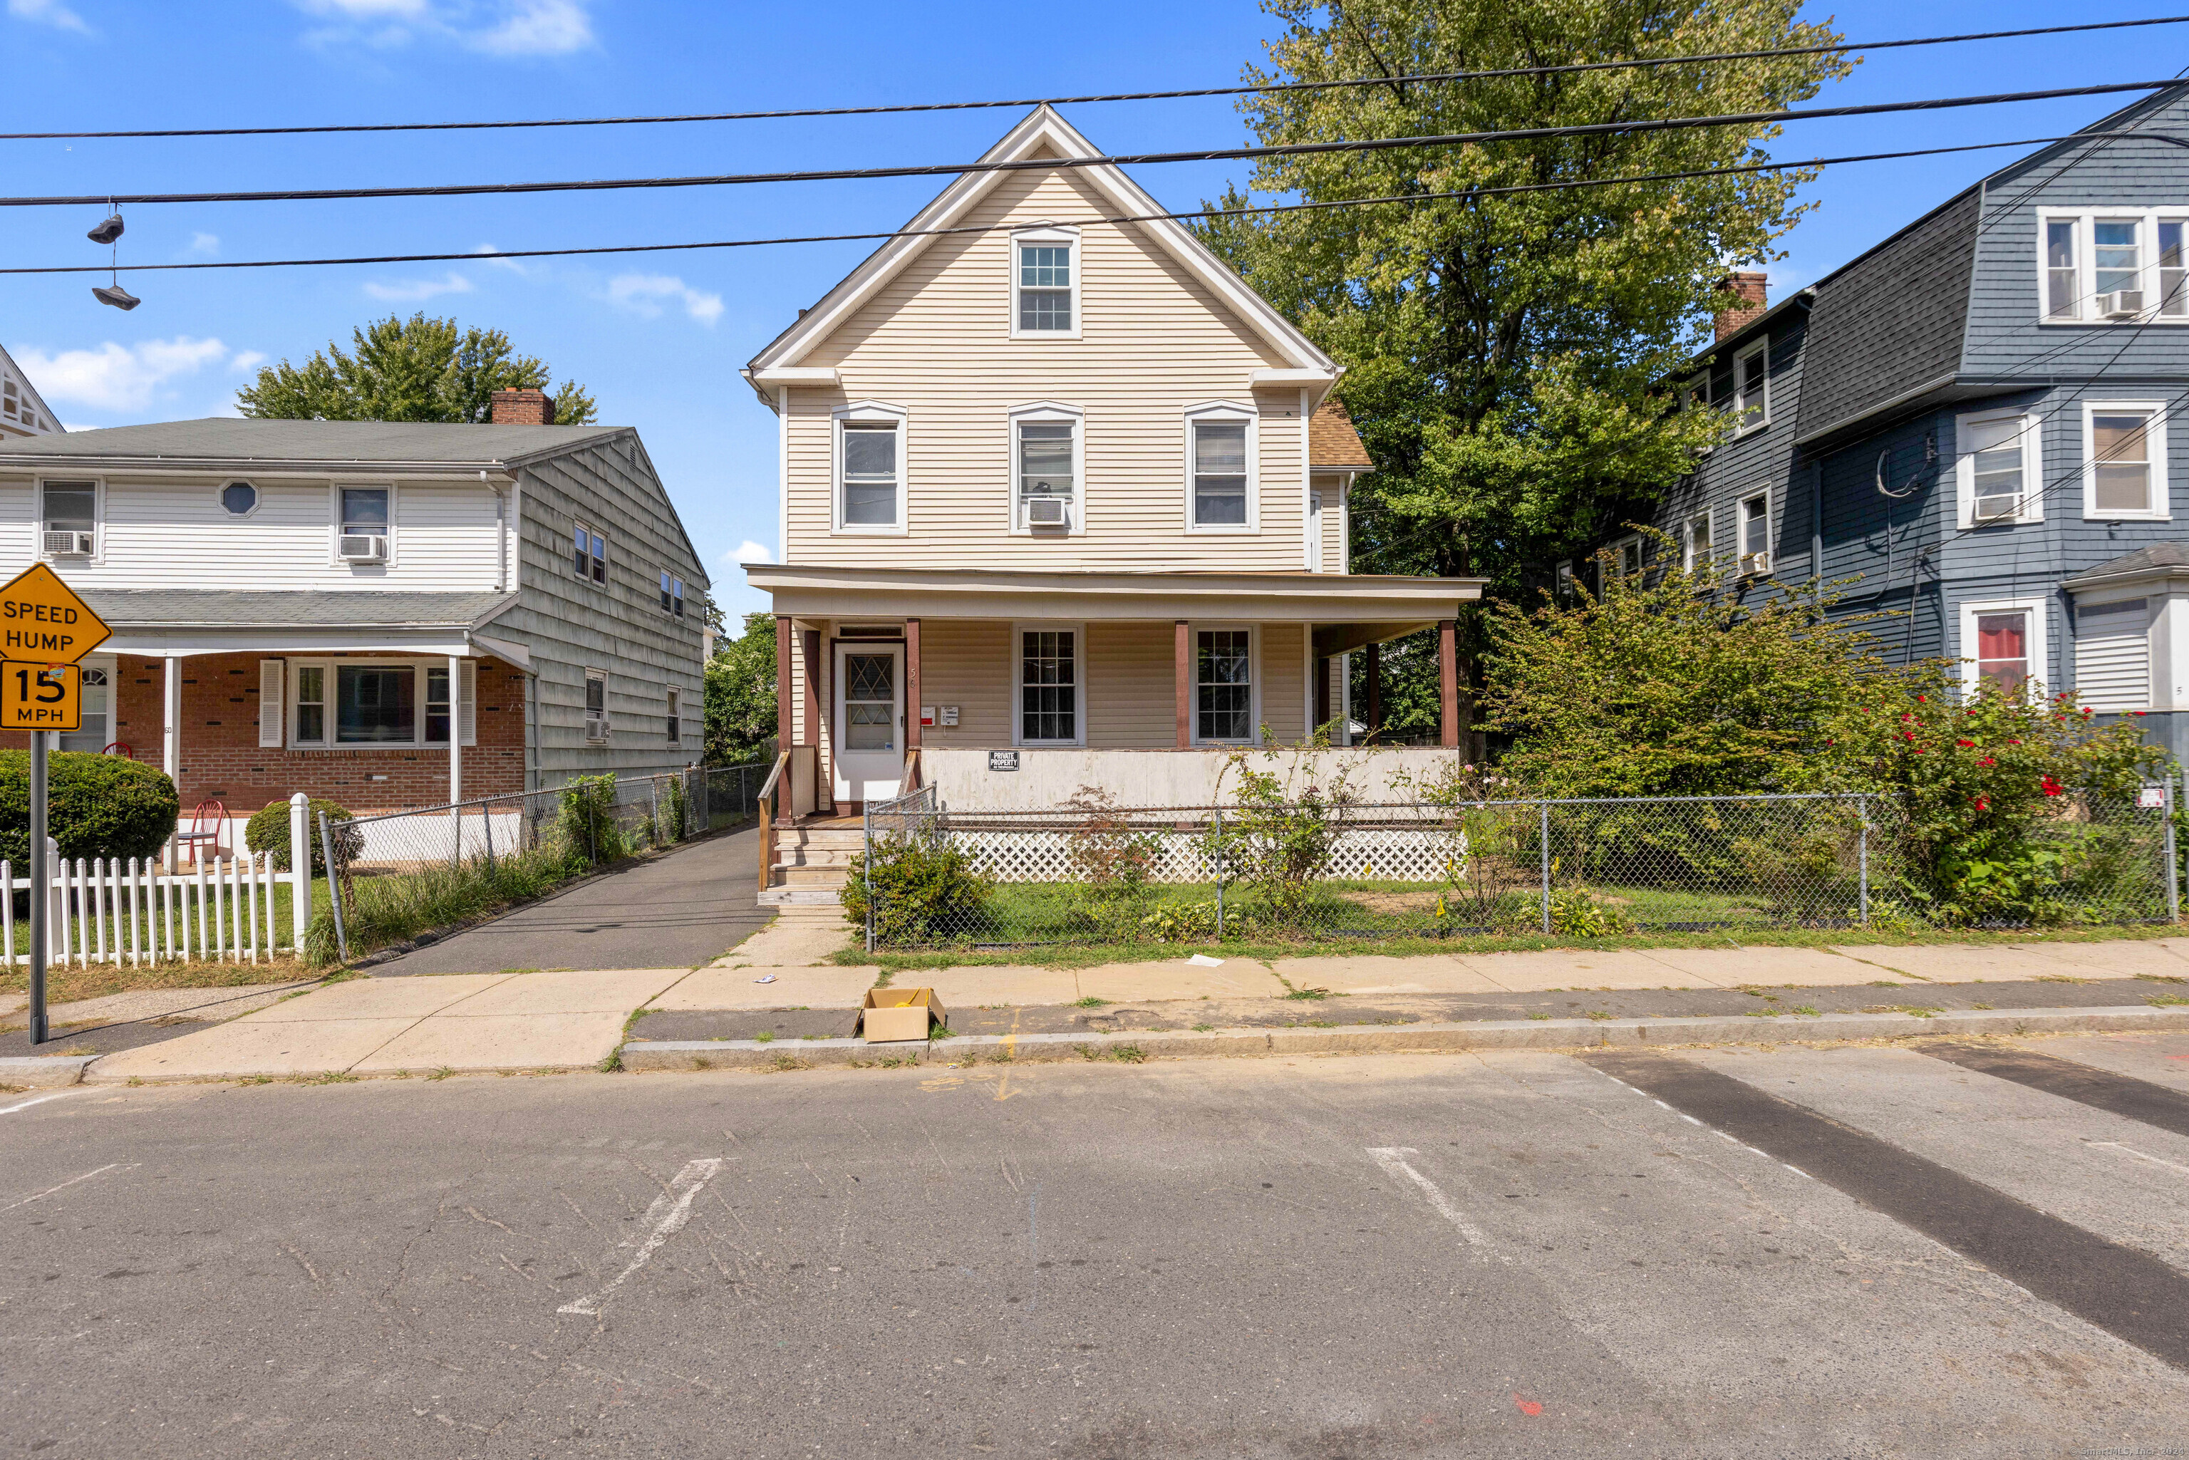
[[[48,954],[53,965],[114,963],[144,965],[182,959],[258,963],[278,950],[293,952],[287,919],[274,917],[276,882],[296,880],[274,869],[271,851],[208,858],[186,873],[160,871],[151,858],[57,860],[48,884]],[[13,862],[0,862],[0,957],[7,967],[28,965],[31,950],[15,948]]]

